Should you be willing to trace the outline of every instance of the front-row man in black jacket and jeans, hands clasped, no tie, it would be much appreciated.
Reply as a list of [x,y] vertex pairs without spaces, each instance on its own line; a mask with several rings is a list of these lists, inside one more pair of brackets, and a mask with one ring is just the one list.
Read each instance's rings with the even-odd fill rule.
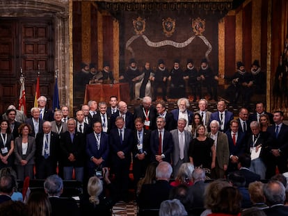
[[[65,180],[72,180],[74,169],[77,181],[83,181],[83,167],[86,159],[85,136],[76,131],[76,120],[68,119],[68,131],[61,134],[61,164],[63,165],[63,176]],[[60,159],[59,158],[59,159]]]

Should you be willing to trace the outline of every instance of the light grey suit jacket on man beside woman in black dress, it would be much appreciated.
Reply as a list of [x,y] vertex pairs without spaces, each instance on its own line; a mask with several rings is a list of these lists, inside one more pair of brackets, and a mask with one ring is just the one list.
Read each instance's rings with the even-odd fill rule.
[[[180,160],[179,131],[178,129],[175,129],[173,131],[170,131],[170,133],[172,134],[173,144],[174,144],[173,153],[172,153],[172,161],[173,161],[173,165],[177,165],[178,160]],[[185,135],[184,162],[189,162],[188,150],[189,150],[189,144],[192,138],[192,133],[190,131],[184,130],[184,135]]]

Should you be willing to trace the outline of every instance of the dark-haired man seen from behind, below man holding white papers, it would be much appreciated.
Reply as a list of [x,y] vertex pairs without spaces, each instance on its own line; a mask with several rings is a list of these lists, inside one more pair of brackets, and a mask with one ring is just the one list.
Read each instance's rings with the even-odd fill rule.
[[251,165],[250,156],[246,153],[241,154],[238,159],[238,168],[239,168],[239,172],[243,174],[243,176],[245,177],[246,188],[248,188],[250,183],[254,181],[260,181],[260,176],[258,174],[255,174],[255,172],[251,172],[249,170],[250,165]]

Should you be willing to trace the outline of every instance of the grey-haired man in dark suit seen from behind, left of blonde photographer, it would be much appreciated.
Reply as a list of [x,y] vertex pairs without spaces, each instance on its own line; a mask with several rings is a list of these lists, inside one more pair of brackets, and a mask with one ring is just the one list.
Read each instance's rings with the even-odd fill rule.
[[79,208],[72,197],[60,197],[63,192],[63,181],[57,175],[49,176],[44,182],[44,190],[48,194],[54,216],[79,216]]

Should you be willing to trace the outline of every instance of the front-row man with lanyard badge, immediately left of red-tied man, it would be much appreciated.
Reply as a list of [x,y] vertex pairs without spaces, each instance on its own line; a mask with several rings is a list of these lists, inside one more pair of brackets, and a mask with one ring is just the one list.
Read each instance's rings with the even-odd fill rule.
[[145,176],[146,168],[150,163],[150,135],[151,131],[146,130],[143,119],[135,119],[134,142],[133,142],[133,176],[137,184],[140,178]]

